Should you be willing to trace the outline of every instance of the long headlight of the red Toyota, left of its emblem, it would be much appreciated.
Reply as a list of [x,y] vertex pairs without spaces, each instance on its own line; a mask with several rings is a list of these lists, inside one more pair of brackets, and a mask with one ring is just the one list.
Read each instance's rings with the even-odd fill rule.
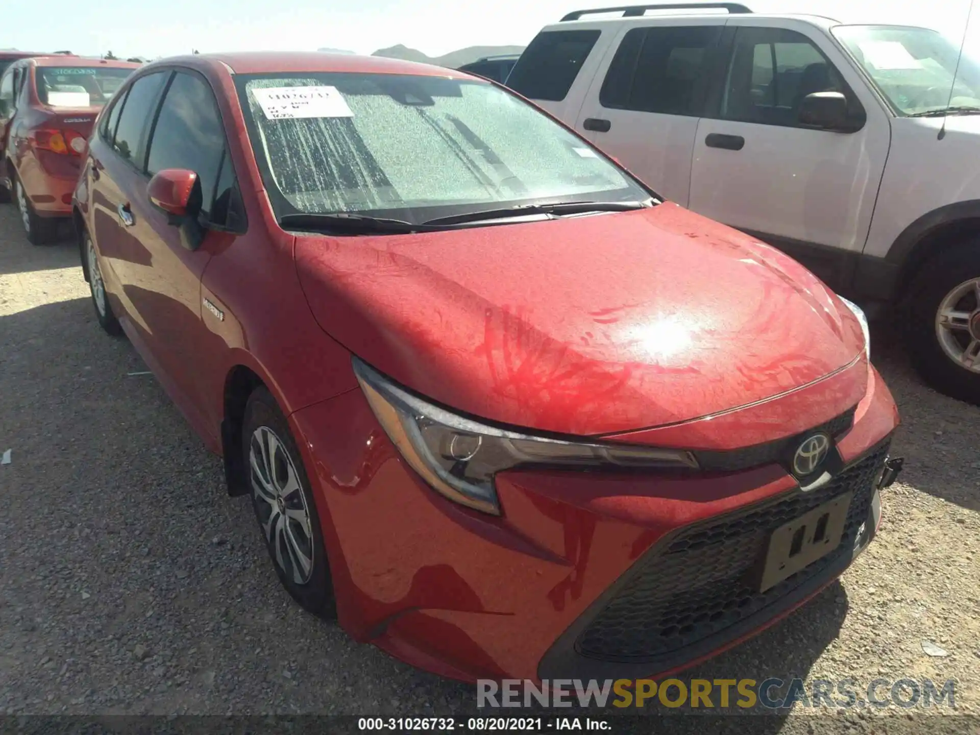
[[409,393],[361,360],[354,372],[406,462],[450,500],[500,515],[494,475],[516,466],[697,467],[690,452],[528,436],[457,416]]

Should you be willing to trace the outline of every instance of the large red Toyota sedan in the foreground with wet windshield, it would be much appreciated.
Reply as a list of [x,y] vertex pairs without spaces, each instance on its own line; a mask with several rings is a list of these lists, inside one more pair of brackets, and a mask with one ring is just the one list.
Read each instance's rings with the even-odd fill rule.
[[704,659],[874,536],[898,424],[857,307],[508,90],[175,58],[75,192],[95,312],[307,610],[437,673]]

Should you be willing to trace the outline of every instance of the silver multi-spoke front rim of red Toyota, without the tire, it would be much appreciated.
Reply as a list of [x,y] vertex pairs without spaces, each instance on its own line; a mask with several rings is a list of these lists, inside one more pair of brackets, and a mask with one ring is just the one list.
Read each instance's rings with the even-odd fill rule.
[[296,584],[306,584],[313,573],[310,510],[296,466],[269,426],[252,433],[249,466],[256,511],[275,563]]

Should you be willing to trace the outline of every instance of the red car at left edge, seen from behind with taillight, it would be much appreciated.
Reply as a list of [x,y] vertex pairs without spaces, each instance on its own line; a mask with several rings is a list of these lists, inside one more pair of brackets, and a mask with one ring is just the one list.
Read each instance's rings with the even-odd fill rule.
[[85,140],[99,110],[139,64],[77,56],[23,58],[0,75],[0,197],[27,239],[51,240],[72,215]]

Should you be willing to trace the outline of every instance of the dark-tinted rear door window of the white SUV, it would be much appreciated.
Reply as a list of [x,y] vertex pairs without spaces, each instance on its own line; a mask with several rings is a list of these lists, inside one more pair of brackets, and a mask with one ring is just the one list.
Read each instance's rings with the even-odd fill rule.
[[721,26],[632,28],[599,92],[603,107],[700,116],[705,64]]

